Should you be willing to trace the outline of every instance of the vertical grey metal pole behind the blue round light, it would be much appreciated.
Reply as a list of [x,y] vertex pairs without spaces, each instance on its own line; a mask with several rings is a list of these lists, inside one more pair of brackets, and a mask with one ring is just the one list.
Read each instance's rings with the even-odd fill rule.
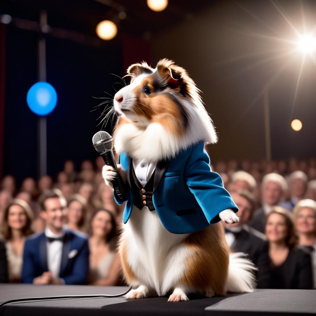
[[[40,12],[40,27],[47,25],[47,12]],[[40,34],[38,40],[38,80],[46,81],[46,40]],[[46,137],[46,116],[38,116],[38,176],[47,174],[47,137]]]

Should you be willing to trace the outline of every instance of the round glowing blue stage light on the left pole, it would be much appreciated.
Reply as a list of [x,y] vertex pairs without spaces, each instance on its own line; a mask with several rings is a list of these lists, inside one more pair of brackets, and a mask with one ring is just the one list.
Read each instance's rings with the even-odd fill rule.
[[33,113],[45,116],[54,110],[57,103],[57,93],[48,82],[36,82],[28,90],[26,101]]

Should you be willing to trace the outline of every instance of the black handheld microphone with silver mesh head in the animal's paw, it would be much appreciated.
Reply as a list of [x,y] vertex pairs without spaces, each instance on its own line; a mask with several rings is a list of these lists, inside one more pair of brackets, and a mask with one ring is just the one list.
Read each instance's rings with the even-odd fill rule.
[[114,192],[117,195],[117,200],[123,202],[125,195],[124,182],[121,175],[119,174],[113,155],[113,137],[105,131],[99,131],[92,137],[92,143],[94,149],[101,155],[106,165],[113,167],[114,171],[116,171],[117,176],[111,182]]

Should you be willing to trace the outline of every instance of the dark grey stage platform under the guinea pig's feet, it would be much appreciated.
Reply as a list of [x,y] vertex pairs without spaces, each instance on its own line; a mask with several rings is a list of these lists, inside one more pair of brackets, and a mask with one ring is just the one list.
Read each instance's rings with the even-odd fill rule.
[[[119,294],[125,287],[0,284],[0,301],[34,296]],[[71,298],[9,303],[0,315],[316,315],[316,290],[261,289],[249,294],[167,302],[167,297],[146,299]]]

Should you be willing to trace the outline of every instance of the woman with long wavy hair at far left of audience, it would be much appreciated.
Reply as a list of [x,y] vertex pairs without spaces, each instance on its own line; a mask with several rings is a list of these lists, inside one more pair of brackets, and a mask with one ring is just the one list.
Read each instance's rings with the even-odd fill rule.
[[1,231],[6,240],[9,282],[21,281],[24,242],[33,233],[32,220],[31,208],[21,199],[12,200],[4,211]]

